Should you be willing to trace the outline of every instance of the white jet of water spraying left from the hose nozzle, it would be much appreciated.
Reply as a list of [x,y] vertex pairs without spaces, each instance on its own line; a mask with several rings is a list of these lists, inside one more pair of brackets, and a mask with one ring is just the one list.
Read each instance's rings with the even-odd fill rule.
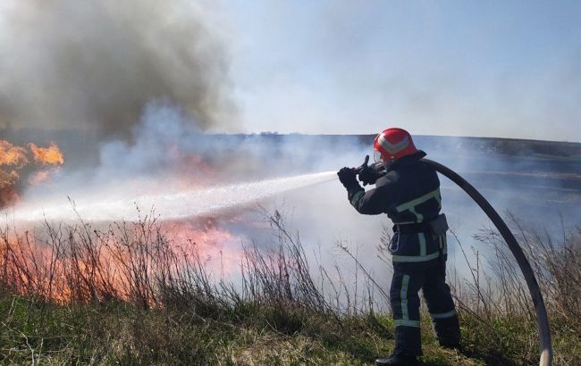
[[0,222],[3,220],[67,221],[78,220],[79,217],[87,221],[129,220],[136,214],[136,205],[141,209],[153,208],[163,220],[186,219],[236,206],[254,204],[274,195],[322,183],[336,177],[334,171],[324,171],[288,178],[190,189],[172,194],[138,195],[119,199],[112,196],[72,197],[71,202],[60,197],[42,203],[21,204],[13,212],[9,212],[9,215],[1,215]]

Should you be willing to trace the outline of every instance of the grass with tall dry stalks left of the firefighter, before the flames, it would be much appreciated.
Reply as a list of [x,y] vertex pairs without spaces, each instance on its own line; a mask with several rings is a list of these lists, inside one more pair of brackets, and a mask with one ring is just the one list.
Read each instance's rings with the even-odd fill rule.
[[[376,320],[372,333],[345,333],[359,320],[341,316],[324,295],[282,215],[267,219],[277,239],[242,246],[240,284],[216,278],[195,242],[174,242],[151,212],[105,228],[81,219],[24,232],[5,227],[0,362],[246,364],[259,354],[274,363],[311,354],[311,361],[357,364],[386,353],[378,343],[389,338],[387,328]],[[265,334],[276,343],[300,335],[284,352],[308,348],[308,337],[316,348],[289,358],[268,349],[248,354]]]

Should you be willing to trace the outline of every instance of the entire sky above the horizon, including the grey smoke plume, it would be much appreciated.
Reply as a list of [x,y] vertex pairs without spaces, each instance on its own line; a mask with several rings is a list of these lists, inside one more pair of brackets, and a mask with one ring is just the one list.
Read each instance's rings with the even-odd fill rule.
[[[0,128],[581,142],[581,1],[0,0]],[[197,121],[196,121],[197,120]]]

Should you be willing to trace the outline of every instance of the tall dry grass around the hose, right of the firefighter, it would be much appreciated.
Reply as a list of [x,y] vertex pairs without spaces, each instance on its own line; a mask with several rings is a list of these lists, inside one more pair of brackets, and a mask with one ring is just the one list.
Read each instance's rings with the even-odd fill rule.
[[[527,227],[511,213],[507,219],[543,292],[554,364],[581,364],[581,228],[567,229],[561,220],[561,236],[555,241],[554,234]],[[508,245],[496,230],[481,229],[474,236],[481,245],[470,248],[470,255],[454,233],[452,237],[469,269],[467,277],[450,272],[467,330],[465,350],[510,354],[515,363],[534,363],[539,352],[535,307]]]

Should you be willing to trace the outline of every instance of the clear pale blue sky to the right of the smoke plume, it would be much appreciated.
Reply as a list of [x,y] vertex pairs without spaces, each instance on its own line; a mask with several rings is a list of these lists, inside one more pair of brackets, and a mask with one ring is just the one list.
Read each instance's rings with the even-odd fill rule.
[[247,132],[581,141],[581,2],[224,1]]

